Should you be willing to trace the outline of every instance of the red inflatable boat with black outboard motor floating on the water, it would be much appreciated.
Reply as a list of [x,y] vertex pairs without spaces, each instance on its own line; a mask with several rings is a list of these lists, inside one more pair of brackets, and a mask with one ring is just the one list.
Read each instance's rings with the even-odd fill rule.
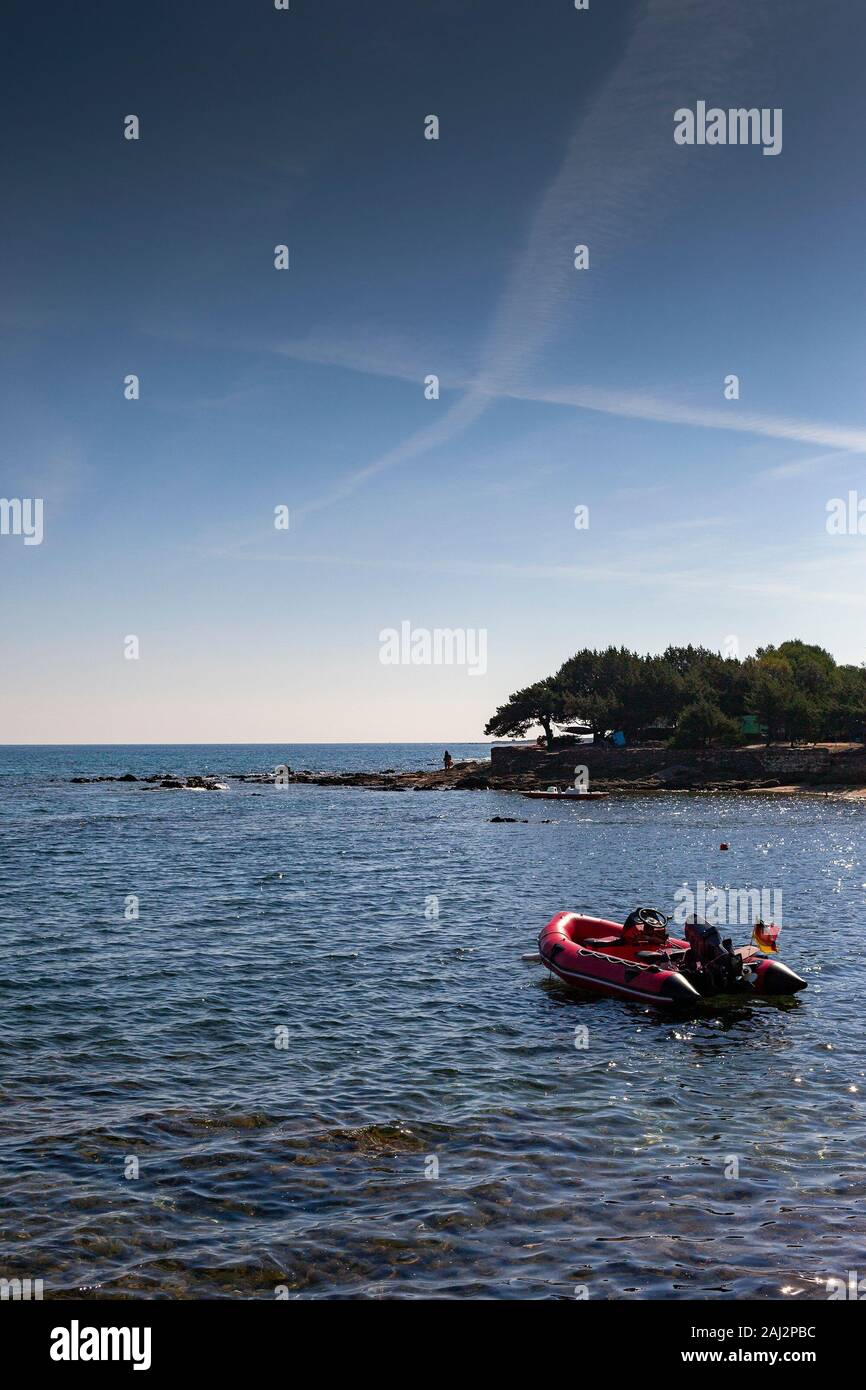
[[621,926],[605,917],[557,912],[538,937],[538,951],[566,984],[646,1004],[695,1004],[713,994],[796,994],[806,988],[805,980],[759,947],[734,948],[721,941],[716,927],[695,920],[685,924],[685,940],[669,937],[670,920],[656,908],[638,908]]

